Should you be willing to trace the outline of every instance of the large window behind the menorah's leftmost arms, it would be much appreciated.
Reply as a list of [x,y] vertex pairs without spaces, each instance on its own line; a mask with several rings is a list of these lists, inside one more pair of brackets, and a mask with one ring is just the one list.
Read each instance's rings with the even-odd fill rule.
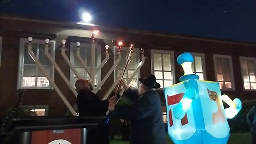
[[[32,51],[43,65],[46,73],[54,78],[54,67],[44,54],[45,40],[33,39]],[[49,53],[54,59],[55,41],[49,42]],[[18,89],[52,89],[49,80],[28,54],[28,39],[20,39]]]

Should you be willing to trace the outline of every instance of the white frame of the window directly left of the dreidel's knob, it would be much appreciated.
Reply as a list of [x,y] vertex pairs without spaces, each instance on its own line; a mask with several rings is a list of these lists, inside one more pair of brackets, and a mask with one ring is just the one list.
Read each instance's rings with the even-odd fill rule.
[[[166,51],[166,50],[151,50],[151,74],[154,74],[155,69],[154,69],[154,53],[161,53],[161,54],[170,54],[171,55],[171,71],[172,71],[172,85],[175,84],[175,62],[174,62],[174,52],[173,51]],[[163,62],[162,62],[162,68],[163,68]],[[161,70],[162,73],[164,72]],[[164,79],[164,74],[163,74],[163,79]],[[164,85],[164,83],[163,83]],[[163,88],[159,88],[160,90],[163,90]]]

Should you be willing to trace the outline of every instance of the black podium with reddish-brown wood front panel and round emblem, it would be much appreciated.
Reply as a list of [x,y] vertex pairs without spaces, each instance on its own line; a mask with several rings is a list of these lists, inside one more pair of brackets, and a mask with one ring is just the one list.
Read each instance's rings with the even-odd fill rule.
[[87,130],[105,119],[81,116],[13,118],[6,132],[15,133],[13,138],[9,137],[18,139],[19,144],[84,144]]

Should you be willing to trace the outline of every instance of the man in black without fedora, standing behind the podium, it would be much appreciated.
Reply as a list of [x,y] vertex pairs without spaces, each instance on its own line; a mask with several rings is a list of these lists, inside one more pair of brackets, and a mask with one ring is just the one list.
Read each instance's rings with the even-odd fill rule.
[[[79,116],[106,116],[108,105],[110,102],[116,102],[114,98],[111,100],[101,101],[99,97],[92,91],[91,83],[86,79],[78,79],[76,81],[77,107]],[[108,144],[108,125],[104,122],[89,129],[87,132],[87,144]]]

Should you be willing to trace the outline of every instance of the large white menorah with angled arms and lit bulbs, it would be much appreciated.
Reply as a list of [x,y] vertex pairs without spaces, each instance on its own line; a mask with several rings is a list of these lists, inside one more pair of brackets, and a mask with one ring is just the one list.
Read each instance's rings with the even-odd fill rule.
[[[74,108],[70,105],[70,103],[67,101],[67,99],[65,98],[65,96],[63,95],[63,93],[60,91],[59,87],[55,84],[54,79],[47,74],[46,69],[43,67],[42,63],[38,60],[38,58],[36,57],[36,55],[34,54],[34,52],[32,51],[32,37],[28,38],[28,53],[30,55],[30,57],[35,61],[36,65],[38,66],[38,68],[42,71],[42,73],[44,74],[44,76],[48,79],[49,83],[52,85],[53,89],[55,89],[55,91],[58,93],[58,95],[60,96],[61,100],[65,103],[65,105],[68,107],[68,109],[70,110],[70,112],[76,116],[76,111],[74,110]],[[65,81],[65,83],[69,86],[69,89],[74,93],[75,96],[77,96],[77,91],[75,90],[73,83],[71,83],[68,78],[65,76],[65,74],[62,72],[62,70],[60,69],[60,67],[57,65],[57,63],[54,61],[54,58],[52,57],[52,55],[49,53],[49,39],[45,39],[45,49],[44,49],[44,54],[46,55],[46,57],[50,60],[50,62],[52,63],[52,65],[54,66],[54,68],[58,71],[58,73],[60,74],[60,76],[63,78],[63,80]],[[78,71],[76,70],[75,66],[73,65],[73,63],[71,63],[70,59],[67,57],[65,51],[65,43],[66,40],[62,40],[62,47],[61,47],[61,55],[62,57],[65,59],[65,61],[68,63],[68,66],[70,67],[70,69],[74,72],[74,74],[76,75],[77,78],[83,78]],[[107,63],[108,59],[109,59],[109,46],[106,45],[106,53],[105,53],[105,59],[100,63],[100,65],[95,68],[95,59],[93,56],[95,56],[95,45],[96,43],[94,42],[94,34],[92,36],[92,45],[91,45],[91,55],[92,55],[92,59],[91,59],[91,68],[89,68],[86,65],[85,60],[81,57],[80,55],[80,43],[77,42],[77,49],[76,49],[76,57],[79,60],[79,62],[81,63],[81,65],[83,66],[83,68],[86,70],[86,72],[90,75],[91,77],[91,83],[94,85],[94,78],[95,75],[97,75],[99,73],[99,71],[102,69],[102,67]],[[141,49],[140,51],[141,53],[141,61],[139,62],[139,65],[137,66],[137,68],[134,70],[133,74],[129,77],[129,79],[127,79],[127,84],[130,84],[133,77],[138,73],[138,71],[140,70],[141,66],[143,65],[143,63],[145,62],[146,57],[144,57],[144,51]],[[97,93],[100,89],[101,86],[103,84],[106,83],[107,78],[110,76],[110,74],[115,70],[115,68],[117,67],[117,65],[119,64],[119,62],[121,61],[121,45],[118,47],[118,53],[117,53],[117,59],[114,61],[113,66],[111,66],[111,68],[108,70],[108,73],[104,76],[104,78],[100,81],[99,84],[97,84],[97,87],[93,86],[93,90],[92,92]],[[85,58],[86,59],[86,58]],[[121,75],[116,79],[116,81],[114,82],[114,84],[111,85],[110,89],[107,91],[107,93],[104,95],[104,97],[102,99],[107,99],[109,94],[111,93],[111,91],[114,90],[114,87],[117,85],[117,83],[119,82],[121,78]],[[119,94],[123,94],[124,90],[122,90]]]

